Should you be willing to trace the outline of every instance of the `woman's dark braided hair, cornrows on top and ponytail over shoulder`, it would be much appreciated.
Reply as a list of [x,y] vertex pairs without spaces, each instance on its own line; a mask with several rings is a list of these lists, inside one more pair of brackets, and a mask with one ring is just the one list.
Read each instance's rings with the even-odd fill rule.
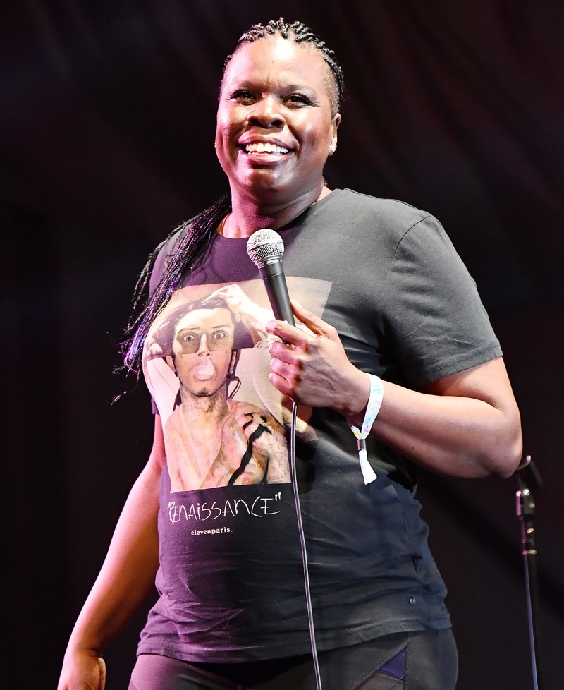
[[[332,75],[332,78],[328,78],[328,87],[331,111],[333,115],[336,114],[345,91],[343,71],[333,59],[333,51],[326,47],[326,44],[301,22],[286,23],[283,18],[279,18],[266,24],[253,25],[240,36],[233,52],[223,63],[223,75],[225,75],[229,61],[241,46],[274,34],[293,40],[295,43],[305,43],[321,53],[331,70],[329,74]],[[166,306],[173,291],[180,285],[186,270],[189,267],[194,268],[202,262],[207,249],[214,241],[217,226],[229,212],[231,212],[231,198],[226,193],[196,217],[173,229],[149,255],[135,285],[132,314],[125,328],[125,339],[120,345],[123,357],[121,370],[134,373],[137,378],[139,377],[142,368],[143,344],[152,322]],[[172,241],[174,236],[176,236],[176,242],[171,252],[166,256],[161,279],[152,293],[149,293],[149,282],[154,262],[159,252],[167,243]],[[119,397],[117,396],[116,399]]]

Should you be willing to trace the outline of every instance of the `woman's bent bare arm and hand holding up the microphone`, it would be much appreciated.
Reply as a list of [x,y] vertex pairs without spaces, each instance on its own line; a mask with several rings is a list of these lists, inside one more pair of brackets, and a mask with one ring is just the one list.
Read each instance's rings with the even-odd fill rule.
[[[331,407],[362,425],[369,377],[350,363],[336,329],[297,303],[293,309],[314,336],[286,322],[266,325],[283,340],[269,348],[271,382],[300,404]],[[510,476],[522,454],[520,415],[502,358],[422,392],[384,382],[372,433],[415,463],[459,477]]]

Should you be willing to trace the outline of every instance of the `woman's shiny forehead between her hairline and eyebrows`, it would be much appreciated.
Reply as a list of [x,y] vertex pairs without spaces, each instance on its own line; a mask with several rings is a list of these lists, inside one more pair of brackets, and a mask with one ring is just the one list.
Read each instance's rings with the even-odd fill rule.
[[328,75],[319,50],[274,35],[241,45],[227,65],[223,86],[258,80],[326,88]]

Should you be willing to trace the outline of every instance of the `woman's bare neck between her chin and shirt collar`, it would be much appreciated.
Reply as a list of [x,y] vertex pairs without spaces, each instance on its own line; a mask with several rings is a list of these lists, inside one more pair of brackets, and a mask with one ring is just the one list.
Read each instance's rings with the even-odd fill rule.
[[297,218],[307,208],[326,197],[331,190],[326,186],[283,205],[259,204],[255,200],[231,194],[233,210],[222,222],[219,231],[224,237],[250,237],[256,230],[277,230]]

